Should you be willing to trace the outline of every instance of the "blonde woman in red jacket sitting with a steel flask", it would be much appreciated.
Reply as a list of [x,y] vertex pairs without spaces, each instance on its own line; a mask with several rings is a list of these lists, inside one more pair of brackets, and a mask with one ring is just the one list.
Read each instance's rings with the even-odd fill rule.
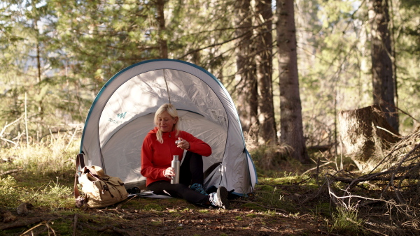
[[[197,205],[229,207],[228,191],[218,187],[215,193],[207,194],[203,188],[202,156],[211,155],[211,147],[178,128],[178,112],[172,104],[160,106],[155,113],[155,128],[144,138],[141,147],[141,175],[146,177],[147,189],[155,194],[183,198]],[[176,140],[178,144],[175,143]],[[172,157],[181,161],[183,150],[187,150],[180,168],[179,184],[171,184],[175,177],[171,167]]]

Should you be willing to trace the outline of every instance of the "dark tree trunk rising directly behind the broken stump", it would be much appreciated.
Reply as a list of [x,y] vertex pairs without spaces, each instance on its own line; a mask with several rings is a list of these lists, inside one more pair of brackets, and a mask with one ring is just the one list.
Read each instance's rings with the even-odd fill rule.
[[395,112],[395,84],[391,61],[391,34],[388,29],[388,0],[370,0],[369,17],[372,43],[373,103],[381,105],[388,123],[398,131],[398,114]]

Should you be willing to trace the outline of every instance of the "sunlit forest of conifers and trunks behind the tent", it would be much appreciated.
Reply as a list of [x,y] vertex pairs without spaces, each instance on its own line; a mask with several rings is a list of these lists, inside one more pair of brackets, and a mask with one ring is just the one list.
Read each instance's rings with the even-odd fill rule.
[[339,110],[383,105],[404,135],[420,115],[419,12],[416,0],[5,0],[1,145],[72,131],[118,71],[166,57],[216,75],[246,137],[302,163],[307,147],[337,147]]

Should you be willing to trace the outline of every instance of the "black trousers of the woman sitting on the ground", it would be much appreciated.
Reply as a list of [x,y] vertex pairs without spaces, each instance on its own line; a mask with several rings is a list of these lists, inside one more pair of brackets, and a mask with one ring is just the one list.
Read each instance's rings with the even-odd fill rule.
[[179,184],[161,180],[149,184],[147,189],[158,195],[183,198],[197,205],[208,205],[209,196],[189,188],[190,184],[203,184],[204,182],[202,156],[188,151],[179,169]]

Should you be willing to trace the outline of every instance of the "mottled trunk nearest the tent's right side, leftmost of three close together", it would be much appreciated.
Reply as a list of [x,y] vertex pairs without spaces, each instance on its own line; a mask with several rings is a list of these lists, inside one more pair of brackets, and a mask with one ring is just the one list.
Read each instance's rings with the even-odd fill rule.
[[[258,129],[258,84],[255,78],[256,66],[253,58],[251,1],[235,1],[235,36],[237,48],[237,109],[242,129],[250,131],[251,126]],[[258,132],[252,132],[253,139],[258,139]]]

